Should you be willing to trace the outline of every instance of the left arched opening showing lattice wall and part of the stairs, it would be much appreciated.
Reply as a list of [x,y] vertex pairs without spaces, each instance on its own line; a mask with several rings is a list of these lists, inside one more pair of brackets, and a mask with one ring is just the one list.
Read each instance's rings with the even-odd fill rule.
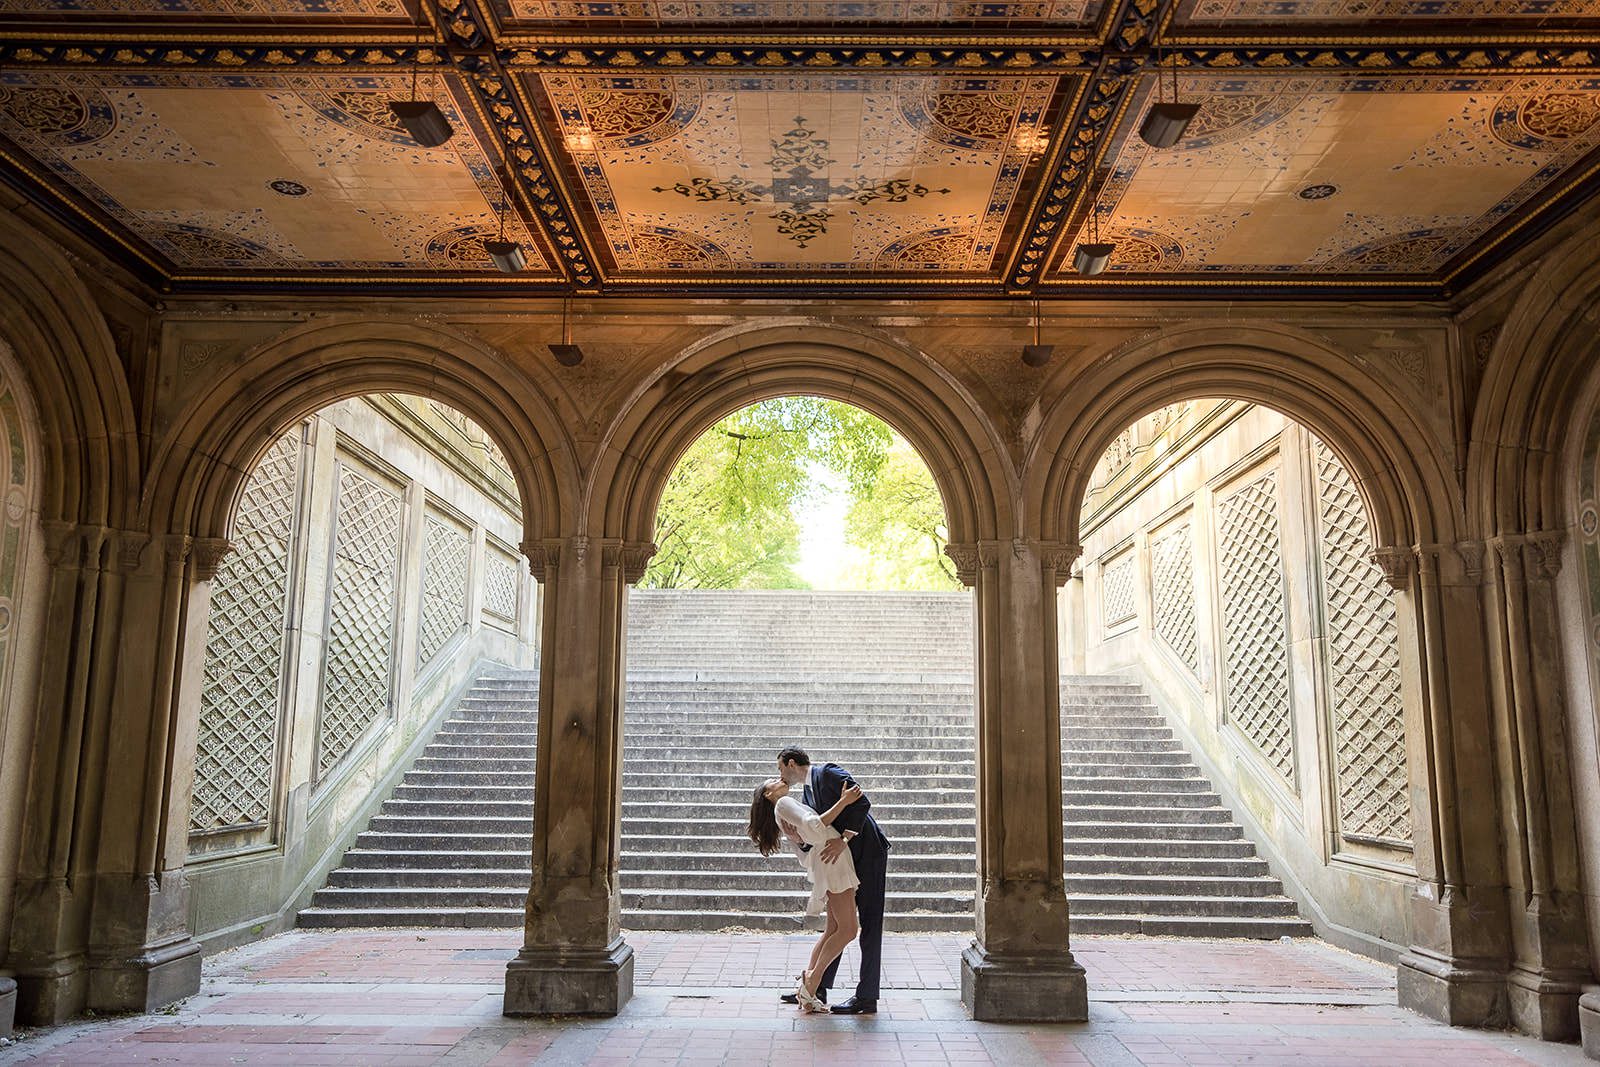
[[[187,827],[197,937],[438,925],[485,893],[520,917],[538,705],[478,709],[507,702],[501,688],[538,691],[523,517],[496,440],[434,398],[352,397],[269,438],[210,584]],[[482,782],[494,757],[501,774]],[[523,857],[520,889],[440,875],[504,851]]]

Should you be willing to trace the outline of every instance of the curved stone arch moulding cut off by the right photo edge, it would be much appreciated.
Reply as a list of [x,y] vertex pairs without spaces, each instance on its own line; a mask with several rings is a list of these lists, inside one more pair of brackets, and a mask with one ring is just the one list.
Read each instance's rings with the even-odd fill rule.
[[1562,462],[1600,366],[1600,262],[1589,240],[1550,254],[1523,283],[1478,387],[1467,442],[1467,518],[1478,537],[1558,530]]

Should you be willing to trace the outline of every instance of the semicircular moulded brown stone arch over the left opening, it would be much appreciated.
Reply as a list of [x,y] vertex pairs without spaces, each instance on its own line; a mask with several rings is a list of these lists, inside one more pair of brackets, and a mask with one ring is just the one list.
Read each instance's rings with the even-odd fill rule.
[[245,478],[274,434],[374,392],[429,397],[478,422],[512,466],[525,537],[558,536],[578,474],[571,442],[533,379],[464,334],[378,322],[296,330],[251,350],[192,398],[155,454],[144,522],[226,537]]

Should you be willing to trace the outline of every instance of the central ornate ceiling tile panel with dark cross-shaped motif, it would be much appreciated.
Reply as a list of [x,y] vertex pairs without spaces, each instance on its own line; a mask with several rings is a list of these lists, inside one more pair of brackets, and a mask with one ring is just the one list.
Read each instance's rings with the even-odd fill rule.
[[619,275],[994,270],[1058,77],[546,74]]

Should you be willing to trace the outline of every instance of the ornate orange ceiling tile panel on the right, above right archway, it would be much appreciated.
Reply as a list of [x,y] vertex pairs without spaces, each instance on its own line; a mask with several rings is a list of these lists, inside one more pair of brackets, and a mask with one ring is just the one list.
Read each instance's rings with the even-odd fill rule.
[[[1190,77],[1186,138],[1128,110],[1098,198],[1110,274],[1426,275],[1600,146],[1600,80]],[[1064,242],[1058,277],[1070,270]]]

